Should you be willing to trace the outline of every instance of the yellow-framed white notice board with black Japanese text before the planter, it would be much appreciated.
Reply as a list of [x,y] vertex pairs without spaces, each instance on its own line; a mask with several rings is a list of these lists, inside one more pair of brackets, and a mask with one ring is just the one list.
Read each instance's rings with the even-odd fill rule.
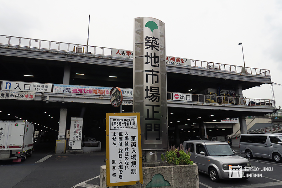
[[107,187],[143,184],[139,113],[107,113]]

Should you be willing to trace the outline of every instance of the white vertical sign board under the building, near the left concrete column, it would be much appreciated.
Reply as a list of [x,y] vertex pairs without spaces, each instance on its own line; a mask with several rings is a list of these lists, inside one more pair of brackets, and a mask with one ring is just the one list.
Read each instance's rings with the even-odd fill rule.
[[70,121],[70,144],[71,149],[81,149],[83,118],[71,118]]

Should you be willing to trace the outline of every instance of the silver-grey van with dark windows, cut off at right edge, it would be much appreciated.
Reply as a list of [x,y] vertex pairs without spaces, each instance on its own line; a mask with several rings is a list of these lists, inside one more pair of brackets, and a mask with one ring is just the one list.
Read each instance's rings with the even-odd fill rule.
[[282,162],[282,135],[271,133],[241,134],[240,153],[247,158],[264,157]]

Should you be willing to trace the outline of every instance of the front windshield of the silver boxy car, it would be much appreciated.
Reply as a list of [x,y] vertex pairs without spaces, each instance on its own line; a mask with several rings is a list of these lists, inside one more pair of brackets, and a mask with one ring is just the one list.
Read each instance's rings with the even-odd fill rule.
[[235,155],[228,144],[206,145],[206,149],[211,156]]

